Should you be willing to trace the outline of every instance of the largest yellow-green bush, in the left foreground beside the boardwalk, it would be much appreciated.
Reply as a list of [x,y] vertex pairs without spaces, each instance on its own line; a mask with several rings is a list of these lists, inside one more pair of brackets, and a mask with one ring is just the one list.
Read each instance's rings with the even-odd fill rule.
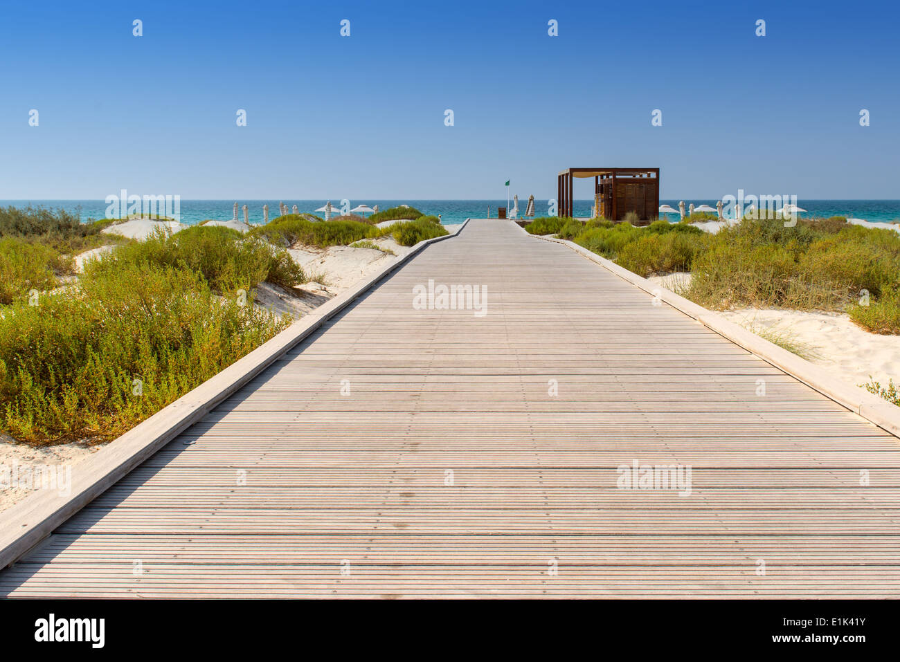
[[214,297],[192,271],[89,270],[38,306],[4,309],[0,427],[27,443],[112,439],[290,321]]

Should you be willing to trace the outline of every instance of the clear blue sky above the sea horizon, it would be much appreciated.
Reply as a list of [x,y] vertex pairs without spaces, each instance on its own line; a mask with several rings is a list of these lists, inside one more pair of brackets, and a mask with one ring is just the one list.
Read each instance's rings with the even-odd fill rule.
[[541,199],[594,165],[659,166],[662,198],[900,198],[898,17],[884,0],[4,2],[0,199],[482,199],[507,178]]

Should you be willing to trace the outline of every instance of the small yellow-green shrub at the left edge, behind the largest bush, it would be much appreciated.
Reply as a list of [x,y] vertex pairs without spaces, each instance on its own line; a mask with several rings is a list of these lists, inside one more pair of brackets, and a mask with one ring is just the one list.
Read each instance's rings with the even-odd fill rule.
[[71,272],[72,261],[50,246],[21,237],[0,237],[0,304],[34,290],[51,290],[57,274]]

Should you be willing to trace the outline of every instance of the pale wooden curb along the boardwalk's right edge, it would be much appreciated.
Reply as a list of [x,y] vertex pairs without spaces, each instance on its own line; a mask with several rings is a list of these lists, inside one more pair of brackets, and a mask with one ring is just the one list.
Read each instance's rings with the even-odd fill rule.
[[765,338],[734,324],[734,322],[728,321],[721,315],[702,308],[693,301],[689,301],[675,292],[665,289],[662,285],[657,285],[636,273],[628,271],[625,267],[619,266],[602,255],[591,253],[583,246],[565,239],[532,235],[525,228],[520,229],[528,237],[544,239],[545,241],[552,241],[572,248],[573,251],[588,258],[591,262],[599,264],[632,285],[636,285],[642,290],[653,294],[653,296],[668,303],[672,308],[680,310],[690,318],[696,319],[705,327],[722,335],[734,344],[740,345],[748,352],[756,354],[763,361],[771,363],[779,370],[796,377],[797,380],[802,381],[806,386],[847,407],[870,423],[878,425],[878,427],[896,437],[900,437],[900,407],[892,405],[868,391],[844,383],[842,380],[836,380],[824,368],[808,362],[806,359],[801,359],[797,354],[788,352],[788,350],[782,349],[777,344],[770,343]]

